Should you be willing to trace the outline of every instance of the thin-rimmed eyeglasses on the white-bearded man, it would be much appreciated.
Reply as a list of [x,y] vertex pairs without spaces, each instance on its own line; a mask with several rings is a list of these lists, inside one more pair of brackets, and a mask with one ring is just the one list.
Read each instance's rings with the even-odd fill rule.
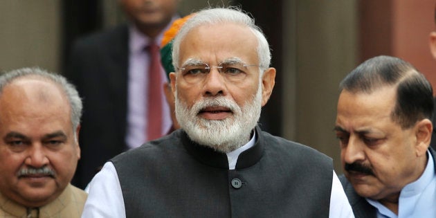
[[221,62],[217,66],[210,66],[207,63],[192,63],[185,64],[185,66],[179,68],[183,79],[188,83],[203,82],[212,68],[216,68],[217,71],[228,82],[240,82],[246,78],[248,66],[259,66],[256,64],[244,64],[243,62]]

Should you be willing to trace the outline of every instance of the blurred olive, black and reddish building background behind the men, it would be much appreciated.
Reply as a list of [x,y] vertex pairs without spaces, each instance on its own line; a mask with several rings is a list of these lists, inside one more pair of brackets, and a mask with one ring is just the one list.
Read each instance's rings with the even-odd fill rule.
[[[234,5],[251,12],[269,39],[278,70],[262,129],[314,147],[340,169],[338,83],[376,55],[400,57],[436,85],[428,48],[434,0],[181,0],[180,14]],[[124,21],[118,0],[1,0],[0,70],[40,66],[63,73],[78,37]]]

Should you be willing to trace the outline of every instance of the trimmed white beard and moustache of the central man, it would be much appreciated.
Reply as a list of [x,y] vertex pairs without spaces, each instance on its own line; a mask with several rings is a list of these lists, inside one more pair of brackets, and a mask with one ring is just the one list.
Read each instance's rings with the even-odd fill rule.
[[[224,96],[204,98],[191,109],[179,100],[176,92],[176,118],[191,140],[200,145],[212,147],[219,152],[232,152],[250,140],[251,131],[257,125],[262,110],[261,83],[257,93],[244,106],[239,107],[233,100]],[[227,107],[233,116],[224,120],[208,120],[198,116],[205,107]]]

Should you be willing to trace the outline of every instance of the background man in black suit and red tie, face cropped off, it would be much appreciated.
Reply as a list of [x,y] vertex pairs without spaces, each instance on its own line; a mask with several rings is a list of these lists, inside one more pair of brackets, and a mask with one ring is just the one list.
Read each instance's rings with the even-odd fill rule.
[[[129,24],[79,39],[72,48],[66,77],[84,98],[80,146],[82,159],[73,183],[84,188],[109,158],[152,139],[149,129],[159,136],[171,127],[170,109],[163,96],[167,81],[160,66],[157,89],[149,91],[153,56],[150,44],[160,44],[163,32],[178,16],[180,0],[121,0]],[[160,60],[160,58],[159,58]],[[149,105],[147,94],[160,103]],[[161,127],[150,124],[146,113],[161,106]]]

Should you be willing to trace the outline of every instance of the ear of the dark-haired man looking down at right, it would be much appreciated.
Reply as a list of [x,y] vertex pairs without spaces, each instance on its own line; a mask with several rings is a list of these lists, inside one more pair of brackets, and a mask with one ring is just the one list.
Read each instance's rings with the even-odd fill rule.
[[430,145],[431,134],[433,133],[433,124],[428,119],[420,120],[415,125],[415,129],[417,156],[426,155],[428,146]]

